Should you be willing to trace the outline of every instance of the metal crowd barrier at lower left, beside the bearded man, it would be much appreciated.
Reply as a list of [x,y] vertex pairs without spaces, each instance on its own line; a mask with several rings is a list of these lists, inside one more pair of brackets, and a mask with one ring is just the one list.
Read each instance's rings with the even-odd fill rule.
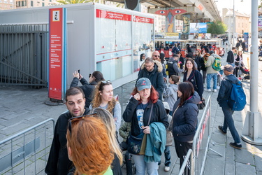
[[0,174],[44,174],[54,123],[50,118],[0,141]]

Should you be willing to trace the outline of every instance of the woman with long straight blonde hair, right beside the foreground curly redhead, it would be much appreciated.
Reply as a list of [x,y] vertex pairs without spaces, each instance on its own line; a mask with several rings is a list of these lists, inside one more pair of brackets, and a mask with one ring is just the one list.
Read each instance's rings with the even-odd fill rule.
[[115,156],[111,165],[112,172],[113,174],[121,175],[122,174],[121,165],[122,165],[123,155],[119,147],[119,144],[117,142],[117,137],[115,134],[115,130],[116,130],[115,121],[112,118],[112,114],[109,111],[101,108],[92,109],[91,113],[96,113],[94,117],[100,118],[106,127],[106,132],[108,133],[108,137],[110,139],[110,145],[108,146],[110,146],[110,149]]

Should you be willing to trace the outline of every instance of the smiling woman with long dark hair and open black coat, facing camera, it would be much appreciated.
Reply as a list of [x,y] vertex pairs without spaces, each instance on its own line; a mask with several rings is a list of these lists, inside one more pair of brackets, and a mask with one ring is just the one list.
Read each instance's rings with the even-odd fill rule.
[[189,81],[190,83],[192,83],[194,90],[198,92],[199,96],[202,99],[204,90],[202,75],[198,70],[196,70],[194,60],[191,58],[187,59],[186,61],[186,66],[184,67],[183,81]]

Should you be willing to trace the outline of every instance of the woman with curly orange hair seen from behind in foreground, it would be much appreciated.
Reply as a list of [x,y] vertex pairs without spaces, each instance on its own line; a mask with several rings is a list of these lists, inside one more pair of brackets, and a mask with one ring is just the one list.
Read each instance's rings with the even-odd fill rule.
[[75,175],[111,175],[114,154],[102,120],[87,116],[69,119],[66,134],[68,158],[75,165]]

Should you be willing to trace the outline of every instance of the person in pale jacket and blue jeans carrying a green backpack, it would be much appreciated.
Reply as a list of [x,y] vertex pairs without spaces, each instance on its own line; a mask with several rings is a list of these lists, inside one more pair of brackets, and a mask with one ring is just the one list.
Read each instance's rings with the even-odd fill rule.
[[[205,63],[207,68],[207,90],[211,92],[211,79],[213,78],[213,91],[217,92],[217,74],[218,71],[214,70],[212,64],[214,63],[214,57],[219,57],[219,55],[214,54],[214,51],[210,51],[210,56],[208,57],[208,62]],[[221,57],[219,57],[221,59]]]

